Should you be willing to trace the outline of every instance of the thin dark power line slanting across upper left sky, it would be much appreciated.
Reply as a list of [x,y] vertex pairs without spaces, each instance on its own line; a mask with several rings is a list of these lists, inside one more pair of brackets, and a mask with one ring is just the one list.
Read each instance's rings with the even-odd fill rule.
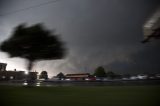
[[7,12],[7,13],[4,13],[4,14],[0,14],[0,16],[6,16],[6,15],[11,15],[11,14],[14,14],[14,13],[22,12],[22,11],[27,11],[29,9],[37,8],[37,7],[47,5],[47,4],[51,4],[51,3],[56,3],[58,1],[60,1],[60,0],[43,2],[43,3],[40,3],[40,4],[34,5],[34,6],[30,6],[30,7],[22,8],[22,9],[19,9],[19,10],[15,10],[15,11]]

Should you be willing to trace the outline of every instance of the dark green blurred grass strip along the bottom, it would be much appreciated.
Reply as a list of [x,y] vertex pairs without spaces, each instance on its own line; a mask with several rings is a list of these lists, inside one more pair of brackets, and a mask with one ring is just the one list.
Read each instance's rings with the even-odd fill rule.
[[0,86],[0,106],[160,106],[160,86]]

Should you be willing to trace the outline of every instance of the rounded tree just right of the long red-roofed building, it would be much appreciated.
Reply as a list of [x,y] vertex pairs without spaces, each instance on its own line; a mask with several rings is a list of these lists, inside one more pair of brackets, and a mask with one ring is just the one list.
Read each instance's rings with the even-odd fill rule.
[[93,75],[96,77],[106,77],[105,69],[102,66],[97,67]]

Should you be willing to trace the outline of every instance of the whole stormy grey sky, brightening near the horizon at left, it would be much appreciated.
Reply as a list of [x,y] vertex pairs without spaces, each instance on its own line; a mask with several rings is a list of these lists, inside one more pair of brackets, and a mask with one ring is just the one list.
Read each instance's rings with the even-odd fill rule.
[[[98,66],[115,73],[160,72],[160,41],[142,44],[143,24],[159,0],[1,0],[0,42],[21,23],[44,23],[66,43],[65,59],[40,61],[33,68],[50,76],[93,73]],[[26,70],[26,60],[0,52],[8,70]]]

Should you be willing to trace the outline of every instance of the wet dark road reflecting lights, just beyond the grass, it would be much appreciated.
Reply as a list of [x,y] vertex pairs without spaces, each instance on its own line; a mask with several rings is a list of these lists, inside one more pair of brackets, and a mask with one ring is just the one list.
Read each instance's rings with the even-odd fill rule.
[[0,85],[15,85],[15,86],[108,86],[108,85],[160,85],[160,80],[108,80],[108,81],[40,81],[33,83],[24,81],[0,81]]

